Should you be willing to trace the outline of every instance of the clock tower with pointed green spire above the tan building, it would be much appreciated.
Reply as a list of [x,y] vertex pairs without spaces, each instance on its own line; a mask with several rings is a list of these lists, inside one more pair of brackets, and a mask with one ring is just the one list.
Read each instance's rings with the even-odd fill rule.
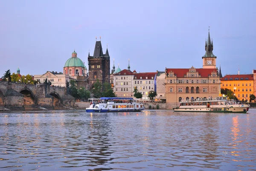
[[210,38],[210,31],[208,32],[208,40],[205,40],[205,55],[203,59],[203,68],[216,68],[216,56],[213,55],[213,43]]

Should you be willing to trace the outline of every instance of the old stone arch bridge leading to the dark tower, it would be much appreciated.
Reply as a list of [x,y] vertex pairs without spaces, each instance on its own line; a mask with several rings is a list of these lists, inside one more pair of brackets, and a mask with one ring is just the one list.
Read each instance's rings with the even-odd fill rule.
[[65,87],[0,81],[0,107],[11,110],[73,107],[75,98]]

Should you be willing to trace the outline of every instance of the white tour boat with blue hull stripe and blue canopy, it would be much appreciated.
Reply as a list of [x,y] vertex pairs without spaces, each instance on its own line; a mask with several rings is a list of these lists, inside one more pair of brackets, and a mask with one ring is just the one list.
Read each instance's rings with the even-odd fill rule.
[[86,112],[140,112],[144,109],[144,105],[133,98],[102,97],[99,101],[92,101]]

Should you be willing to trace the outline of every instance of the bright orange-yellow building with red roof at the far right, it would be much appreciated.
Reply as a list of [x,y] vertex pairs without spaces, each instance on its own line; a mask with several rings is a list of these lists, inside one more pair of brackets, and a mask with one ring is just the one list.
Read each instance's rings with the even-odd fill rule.
[[240,101],[250,101],[253,94],[253,74],[225,75],[221,78],[221,88],[232,90]]

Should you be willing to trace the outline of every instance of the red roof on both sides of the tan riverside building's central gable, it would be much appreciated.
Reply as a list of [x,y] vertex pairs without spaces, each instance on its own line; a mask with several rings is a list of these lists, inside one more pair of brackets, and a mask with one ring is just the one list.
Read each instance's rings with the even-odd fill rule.
[[[166,68],[167,73],[172,71],[177,76],[177,78],[183,78],[184,75],[186,75],[187,72],[189,72],[189,69],[190,68]],[[214,71],[217,72],[217,70],[215,68],[211,68],[211,69],[209,69],[209,68],[198,68],[198,69],[195,69],[195,70],[203,78],[209,77],[209,75],[211,75],[212,72],[214,72]]]

